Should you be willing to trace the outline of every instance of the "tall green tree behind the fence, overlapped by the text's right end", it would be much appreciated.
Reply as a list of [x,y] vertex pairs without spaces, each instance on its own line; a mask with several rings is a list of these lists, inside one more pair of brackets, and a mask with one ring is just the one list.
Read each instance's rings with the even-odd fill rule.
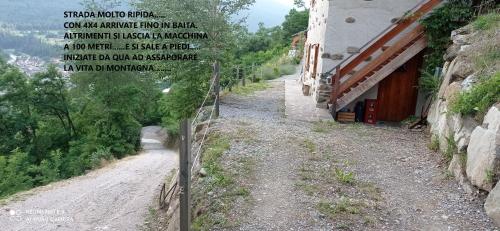
[[[191,116],[198,108],[210,86],[212,64],[221,63],[223,78],[229,72],[233,49],[236,47],[238,22],[232,16],[247,9],[255,0],[142,0],[139,10],[153,11],[165,16],[162,21],[194,22],[197,28],[182,29],[182,32],[206,33],[208,39],[170,39],[166,43],[192,44],[199,49],[191,50],[198,60],[193,62],[164,62],[160,69],[170,73],[155,73],[174,83],[163,102],[163,123],[175,133],[176,124]],[[179,13],[182,12],[182,13]],[[172,29],[150,30],[150,32],[176,32]],[[172,52],[172,51],[166,51]],[[175,52],[175,51],[174,51]],[[185,53],[185,51],[178,51]]]

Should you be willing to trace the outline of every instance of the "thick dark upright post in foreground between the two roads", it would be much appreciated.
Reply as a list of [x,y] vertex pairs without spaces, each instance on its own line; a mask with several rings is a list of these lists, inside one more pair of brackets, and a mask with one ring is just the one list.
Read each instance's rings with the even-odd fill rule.
[[179,147],[180,230],[191,230],[191,122],[183,120]]

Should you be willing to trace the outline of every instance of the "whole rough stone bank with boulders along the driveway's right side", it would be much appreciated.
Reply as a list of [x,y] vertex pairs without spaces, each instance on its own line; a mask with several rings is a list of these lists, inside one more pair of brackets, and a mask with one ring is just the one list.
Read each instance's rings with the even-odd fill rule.
[[456,97],[472,89],[485,72],[475,69],[474,60],[489,43],[498,41],[485,41],[471,26],[454,31],[451,38],[453,44],[443,57],[442,83],[428,115],[430,130],[441,152],[453,151],[448,170],[462,189],[467,194],[477,189],[490,192],[485,210],[500,226],[500,103],[489,109],[483,121],[449,110]]

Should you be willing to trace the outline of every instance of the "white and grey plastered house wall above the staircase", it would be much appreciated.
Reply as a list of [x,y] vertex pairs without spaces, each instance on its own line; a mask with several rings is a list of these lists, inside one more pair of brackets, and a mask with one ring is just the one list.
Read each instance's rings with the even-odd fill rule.
[[[303,83],[311,86],[318,107],[325,108],[331,88],[325,73],[394,23],[395,18],[420,0],[316,0],[310,10],[306,44],[320,44],[316,76],[305,71]],[[306,46],[307,47],[307,46]]]

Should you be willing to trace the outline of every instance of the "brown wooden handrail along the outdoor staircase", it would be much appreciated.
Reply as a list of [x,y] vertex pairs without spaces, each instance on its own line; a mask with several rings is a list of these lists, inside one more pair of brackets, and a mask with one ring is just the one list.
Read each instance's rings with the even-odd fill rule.
[[[356,57],[354,57],[354,55],[348,57],[347,59],[345,59],[344,61],[342,61],[341,63],[339,63],[338,65],[336,65],[334,68],[332,68],[330,71],[327,72],[327,74],[332,74],[332,72],[334,72],[334,74],[331,77],[328,77],[330,79],[331,85],[332,85],[332,93],[330,95],[330,103],[332,104],[332,106],[330,108],[330,112],[332,113],[332,115],[334,115],[334,113],[336,112],[337,99],[338,99],[339,94],[341,92],[345,91],[346,89],[349,89],[352,86],[352,84],[356,84],[359,81],[359,79],[353,79],[353,80],[349,79],[349,80],[346,80],[345,84],[342,84],[342,87],[341,87],[340,80],[343,77],[345,77],[347,73],[352,72],[354,70],[354,68],[359,66],[359,64],[361,64],[363,61],[365,61],[369,57],[371,57],[375,52],[377,52],[381,48],[383,48],[389,41],[393,40],[401,32],[408,29],[410,25],[415,23],[417,20],[419,20],[424,15],[426,15],[428,12],[430,12],[432,9],[434,9],[436,6],[438,6],[441,2],[442,2],[442,0],[427,0],[425,3],[423,3],[423,2],[420,3],[415,8],[408,11],[399,20],[399,22],[397,22],[395,25],[391,25],[390,27],[385,29],[382,33],[380,33],[379,35],[374,37],[371,41],[366,43],[360,49],[361,53],[356,55]],[[417,27],[417,29],[413,30],[411,33],[419,33],[420,34],[422,32],[422,30],[423,29],[421,27]],[[415,35],[415,34],[410,34],[410,35]],[[408,39],[405,37],[405,38],[402,38],[401,40],[402,40],[401,42],[403,42],[403,41],[407,41]],[[411,42],[411,40],[407,41],[407,42]],[[396,45],[398,45],[398,44],[401,45],[400,42],[396,43]],[[393,48],[393,49],[389,48],[388,50],[390,50],[392,52],[394,49],[395,48]],[[384,52],[384,53],[388,54],[386,52]],[[390,57],[391,57],[391,55],[387,56],[386,58],[388,59]],[[380,61],[381,59],[377,59],[377,60]],[[347,61],[349,61],[349,62],[347,64],[345,64]],[[365,72],[366,71],[369,72],[369,71],[371,71],[371,70],[369,70],[369,68],[372,68],[372,69],[376,68],[380,64],[381,63],[378,63],[378,65],[376,65],[376,66],[374,66],[375,64],[370,64],[370,65],[368,65],[369,67],[363,68],[362,70]],[[366,73],[368,73],[368,72],[366,72]],[[360,75],[360,74],[356,74],[355,76],[357,76],[357,78],[364,77],[364,75]],[[359,76],[361,76],[361,77],[359,77]]]

